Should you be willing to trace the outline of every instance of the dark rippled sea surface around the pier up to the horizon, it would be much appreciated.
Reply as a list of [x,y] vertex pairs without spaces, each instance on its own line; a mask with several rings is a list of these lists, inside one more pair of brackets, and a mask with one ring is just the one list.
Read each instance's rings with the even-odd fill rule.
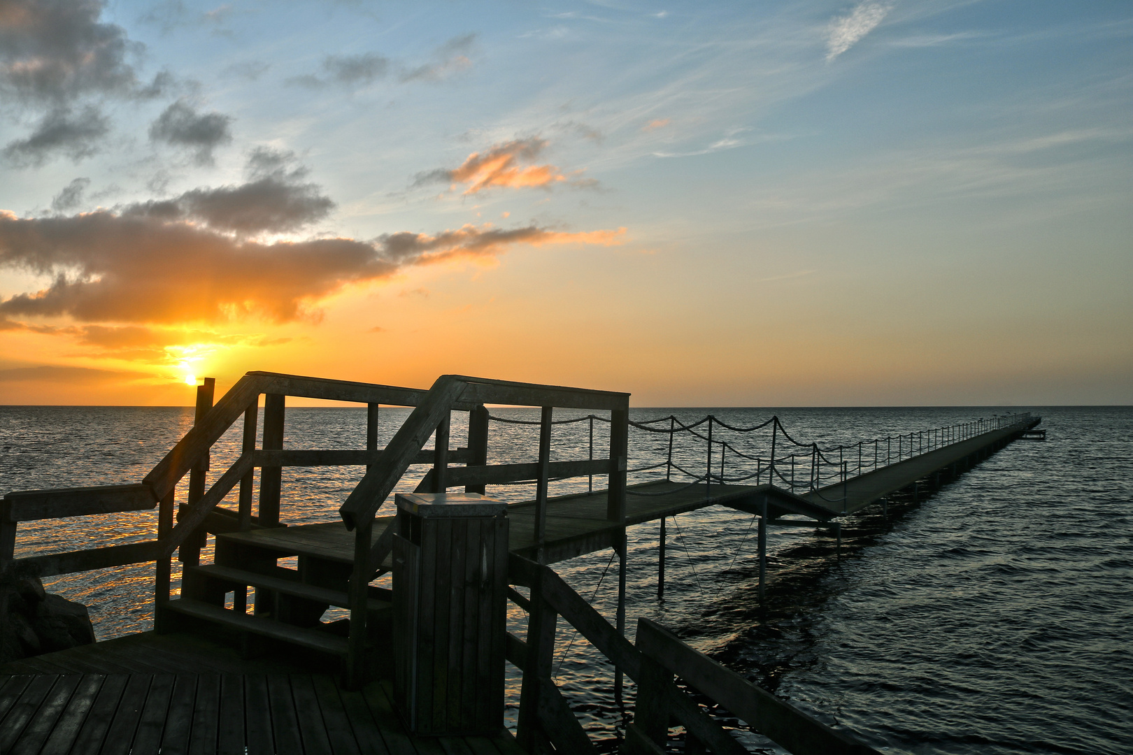
[[[656,589],[658,525],[632,527],[629,632],[639,616],[657,620],[885,752],[1133,752],[1133,409],[1014,411],[1024,410],[1043,418],[1046,441],[1013,443],[919,501],[892,501],[888,516],[867,511],[849,517],[841,559],[821,533],[770,527],[766,608],[756,600],[750,515],[713,507],[670,518],[663,601]],[[1003,411],[637,409],[631,417],[674,414],[693,421],[712,413],[749,427],[777,414],[802,443],[828,447],[864,440],[862,453],[869,457],[875,438]],[[383,444],[407,413],[382,410]],[[495,409],[493,414],[538,419],[538,410]],[[578,415],[557,412],[555,419]],[[454,414],[454,446],[466,437],[462,417]],[[284,445],[363,448],[365,422],[361,409],[289,409]],[[188,409],[0,406],[0,494],[140,481],[190,424]],[[590,426],[589,420],[555,426],[553,457],[586,458]],[[594,455],[604,456],[608,426],[593,426]],[[537,428],[494,422],[491,430],[491,461],[535,461]],[[767,430],[730,434],[717,427],[716,434],[736,451],[766,457]],[[236,431],[220,440],[213,479],[236,458],[239,443]],[[884,454],[885,441],[877,448]],[[857,447],[844,452],[851,466],[855,453]],[[631,467],[664,461],[666,454],[666,435],[631,432]],[[702,473],[704,443],[678,436],[674,460]],[[726,477],[756,471],[738,454],[725,456],[725,464]],[[425,471],[415,469],[401,489],[411,489]],[[639,472],[631,479],[656,474]],[[337,521],[338,507],[360,475],[352,467],[286,470],[282,518]],[[586,478],[555,482],[552,494],[587,484]],[[594,486],[604,487],[604,480],[596,478]],[[505,500],[529,499],[533,492],[529,484],[488,489]],[[19,527],[17,556],[145,540],[155,531],[155,512],[27,522]],[[608,551],[554,568],[613,620],[617,565]],[[97,636],[109,638],[150,628],[152,581],[152,566],[136,566],[45,583],[86,603]],[[337,616],[331,611],[327,619]],[[514,609],[509,620],[519,629],[521,611]],[[613,752],[625,720],[613,702],[613,675],[562,621],[555,668],[591,737]],[[509,702],[516,703],[519,677],[510,667],[509,674]],[[632,696],[629,685],[629,710]],[[777,752],[736,726],[753,750]],[[679,750],[680,741],[673,747]]]

